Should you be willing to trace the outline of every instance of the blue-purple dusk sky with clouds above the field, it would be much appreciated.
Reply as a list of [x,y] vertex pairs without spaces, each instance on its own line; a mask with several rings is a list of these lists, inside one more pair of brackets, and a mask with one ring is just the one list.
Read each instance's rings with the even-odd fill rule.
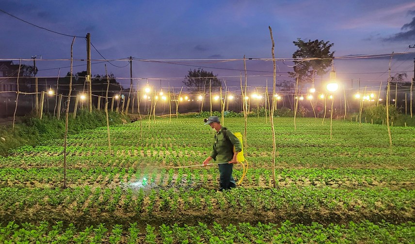
[[[334,43],[335,57],[412,52],[392,59],[392,75],[407,72],[413,77],[415,48],[414,0],[2,0],[0,9],[48,30],[79,36],[74,43],[74,59],[86,58],[86,33],[105,59],[181,60],[133,62],[134,81],[167,87],[182,86],[189,69],[203,67],[228,86],[239,87],[243,61],[222,59],[271,58],[271,26],[275,57],[292,57],[293,41],[301,38]],[[1,59],[31,59],[37,55],[38,76],[61,76],[70,69],[73,37],[52,33],[0,12]],[[91,47],[92,59],[103,59]],[[42,61],[40,60],[42,56]],[[194,59],[210,59],[195,61]],[[351,87],[379,87],[388,78],[390,57],[377,59],[335,59],[337,79]],[[18,61],[14,61],[18,64]],[[92,73],[105,75],[102,62],[92,65]],[[23,64],[32,65],[27,61]],[[127,61],[107,64],[109,73],[129,78]],[[124,66],[124,67],[115,67]],[[86,62],[76,61],[74,73],[86,70]],[[277,62],[277,80],[288,80],[290,62]],[[272,85],[271,61],[248,61],[248,84]],[[258,72],[260,71],[260,72]],[[328,79],[328,74],[323,77]],[[129,79],[117,79],[129,84]],[[317,82],[317,81],[316,81]],[[232,88],[231,88],[232,89]]]

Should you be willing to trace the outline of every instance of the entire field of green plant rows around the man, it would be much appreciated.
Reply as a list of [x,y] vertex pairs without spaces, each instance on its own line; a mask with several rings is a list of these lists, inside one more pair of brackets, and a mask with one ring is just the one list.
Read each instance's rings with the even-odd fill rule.
[[[216,192],[203,118],[158,118],[23,146],[0,158],[0,243],[411,243],[415,128],[248,118],[248,173]],[[243,118],[224,126],[243,132]],[[239,180],[242,167],[234,167]]]

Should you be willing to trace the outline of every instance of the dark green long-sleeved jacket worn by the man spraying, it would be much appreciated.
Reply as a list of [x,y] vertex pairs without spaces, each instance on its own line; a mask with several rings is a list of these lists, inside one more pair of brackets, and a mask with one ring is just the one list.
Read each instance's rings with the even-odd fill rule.
[[232,133],[232,131],[226,130],[226,135],[229,140],[226,139],[223,134],[222,127],[221,130],[215,134],[215,143],[213,143],[213,150],[212,153],[210,153],[210,157],[219,163],[226,163],[232,160],[234,146],[236,152],[242,151],[239,139]]

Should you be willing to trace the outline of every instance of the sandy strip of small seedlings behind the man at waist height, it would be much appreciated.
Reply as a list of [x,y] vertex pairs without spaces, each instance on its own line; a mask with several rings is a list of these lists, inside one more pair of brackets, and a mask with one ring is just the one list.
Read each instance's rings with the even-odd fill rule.
[[[43,150],[44,148],[45,150]],[[209,149],[205,152],[182,149],[168,150],[136,150],[129,147],[112,147],[112,153],[109,156],[109,150],[101,148],[100,150],[89,151],[74,150],[68,153],[67,165],[79,167],[114,166],[114,167],[136,167],[143,164],[163,165],[165,167],[185,166],[201,164],[208,154]],[[115,148],[115,149],[113,149]],[[415,147],[414,147],[415,148]],[[248,150],[249,151],[249,150]],[[353,168],[391,168],[391,169],[415,169],[414,160],[415,152],[404,153],[405,150],[395,151],[388,155],[386,151],[378,154],[377,150],[373,152],[344,152],[339,151],[335,155],[324,152],[318,154],[318,150],[311,150],[307,155],[306,149],[299,149],[298,154],[290,151],[278,150],[276,157],[276,166],[279,168],[287,167],[353,167]],[[254,151],[254,153],[245,153],[246,160],[252,167],[271,168],[271,152]],[[1,167],[60,167],[63,165],[64,155],[60,151],[48,147],[28,148],[19,151],[8,157],[0,157]],[[92,164],[94,163],[94,164]]]

